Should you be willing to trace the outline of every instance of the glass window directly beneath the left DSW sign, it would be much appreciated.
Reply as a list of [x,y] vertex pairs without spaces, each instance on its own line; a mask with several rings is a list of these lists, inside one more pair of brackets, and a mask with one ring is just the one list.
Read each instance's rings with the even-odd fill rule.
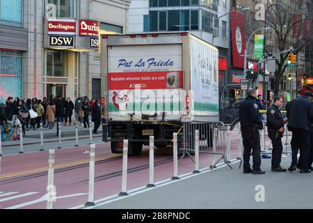
[[47,76],[67,77],[67,51],[47,51]]

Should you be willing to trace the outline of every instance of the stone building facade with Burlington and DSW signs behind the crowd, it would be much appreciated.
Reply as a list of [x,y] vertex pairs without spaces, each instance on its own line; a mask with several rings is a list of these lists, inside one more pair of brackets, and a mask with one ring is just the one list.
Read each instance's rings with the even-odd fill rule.
[[[101,33],[125,33],[130,1],[0,2],[1,101],[9,95],[19,98],[61,95],[74,99],[81,93],[101,98],[99,47],[88,45],[91,38],[81,35],[79,26],[84,21],[95,22],[99,33],[94,39]],[[53,22],[58,24],[52,26]],[[60,27],[65,27],[61,26],[64,22],[72,22],[77,30],[63,33]],[[61,32],[53,32],[54,28]],[[52,39],[60,37],[73,42],[63,46],[53,44]]]

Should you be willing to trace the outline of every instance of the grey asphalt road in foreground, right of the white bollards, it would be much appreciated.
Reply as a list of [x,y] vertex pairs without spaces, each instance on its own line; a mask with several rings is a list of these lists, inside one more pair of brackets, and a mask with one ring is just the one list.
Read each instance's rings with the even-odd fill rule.
[[[282,158],[282,166],[290,162]],[[97,208],[313,208],[313,173],[271,172],[270,164],[262,160],[264,175],[243,174],[237,163],[233,170],[223,167]]]

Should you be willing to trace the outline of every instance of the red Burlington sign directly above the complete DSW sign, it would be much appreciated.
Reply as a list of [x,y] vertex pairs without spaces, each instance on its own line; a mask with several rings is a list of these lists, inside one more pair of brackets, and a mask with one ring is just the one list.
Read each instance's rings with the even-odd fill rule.
[[48,35],[68,35],[75,36],[76,22],[75,20],[48,20]]

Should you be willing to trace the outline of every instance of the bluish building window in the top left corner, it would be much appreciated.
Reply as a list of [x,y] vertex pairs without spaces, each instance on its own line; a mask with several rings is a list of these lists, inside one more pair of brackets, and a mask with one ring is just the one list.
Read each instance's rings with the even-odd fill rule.
[[22,0],[0,0],[1,24],[22,27],[22,8]]

